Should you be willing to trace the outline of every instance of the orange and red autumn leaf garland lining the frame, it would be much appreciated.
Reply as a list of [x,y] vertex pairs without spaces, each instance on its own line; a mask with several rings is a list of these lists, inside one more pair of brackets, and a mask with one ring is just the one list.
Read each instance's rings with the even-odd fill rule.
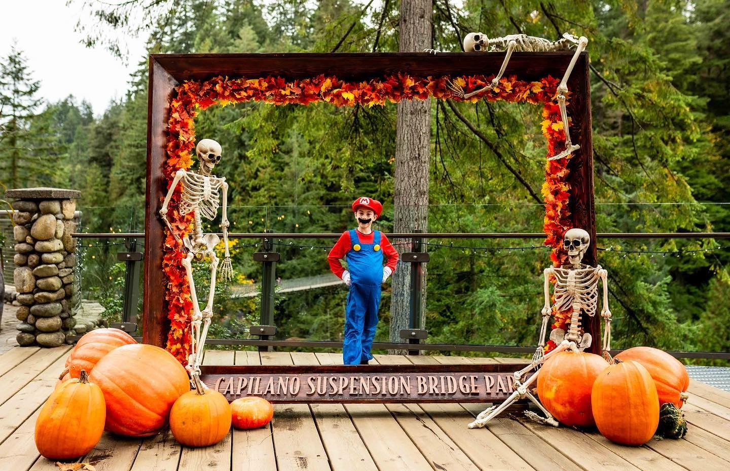
[[[456,84],[465,93],[478,90],[491,83],[492,77],[475,75],[455,77]],[[164,168],[168,187],[172,184],[174,173],[193,165],[192,155],[195,147],[195,117],[199,110],[218,104],[226,106],[244,101],[263,101],[274,105],[327,102],[334,106],[383,106],[401,100],[451,98],[451,90],[446,86],[447,77],[412,77],[408,74],[393,74],[383,78],[360,82],[347,82],[337,77],[320,75],[307,79],[286,80],[282,77],[238,78],[215,77],[205,82],[187,81],[177,87],[177,97],[170,103],[167,128],[167,160]],[[504,77],[496,89],[488,90],[480,96],[469,98],[472,103],[478,100],[507,101],[510,103],[543,104],[542,133],[548,140],[547,155],[556,155],[565,148],[560,112],[556,103],[558,79],[545,77],[537,82],[525,82],[516,77]],[[562,237],[570,227],[568,199],[569,184],[568,159],[548,161],[545,164],[545,184],[542,195],[545,198],[545,225],[547,238],[545,245],[551,246],[553,263],[560,266],[565,254]],[[180,215],[177,211],[180,191],[174,192],[167,214],[172,230],[183,239],[191,232],[193,217]],[[185,258],[183,244],[167,229],[164,244],[163,270],[167,278],[165,299],[167,301],[170,330],[167,349],[183,365],[190,353],[190,317],[193,311],[190,287],[185,277],[181,261]],[[555,327],[563,327],[568,316],[553,313]]]

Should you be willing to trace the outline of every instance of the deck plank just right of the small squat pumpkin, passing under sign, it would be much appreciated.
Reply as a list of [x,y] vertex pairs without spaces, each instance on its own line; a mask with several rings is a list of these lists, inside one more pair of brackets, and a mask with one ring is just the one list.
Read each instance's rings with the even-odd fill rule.
[[[286,351],[261,352],[261,365],[292,364],[291,354]],[[279,471],[330,470],[308,405],[275,404],[272,428]]]

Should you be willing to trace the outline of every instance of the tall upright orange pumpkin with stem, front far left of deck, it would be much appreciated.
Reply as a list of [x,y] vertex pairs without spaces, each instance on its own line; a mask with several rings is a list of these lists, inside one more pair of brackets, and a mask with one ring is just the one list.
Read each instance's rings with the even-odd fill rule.
[[81,378],[61,384],[43,405],[36,420],[36,447],[47,459],[73,459],[87,454],[104,433],[104,394]]

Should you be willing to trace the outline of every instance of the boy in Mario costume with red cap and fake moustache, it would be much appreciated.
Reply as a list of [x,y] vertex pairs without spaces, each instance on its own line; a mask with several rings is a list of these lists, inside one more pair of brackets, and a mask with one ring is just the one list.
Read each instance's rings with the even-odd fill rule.
[[[342,359],[345,365],[367,365],[372,354],[372,340],[380,307],[380,285],[396,269],[398,252],[385,234],[372,230],[372,222],[380,217],[383,205],[365,196],[353,203],[358,227],[342,233],[329,252],[327,260],[332,273],[350,287],[345,311],[345,343]],[[383,256],[388,264],[383,267]],[[339,260],[347,260],[347,270]]]

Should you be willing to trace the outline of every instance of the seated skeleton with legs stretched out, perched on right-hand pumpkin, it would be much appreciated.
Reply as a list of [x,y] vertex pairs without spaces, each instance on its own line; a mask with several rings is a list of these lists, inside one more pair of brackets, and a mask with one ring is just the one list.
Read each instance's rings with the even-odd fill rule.
[[[488,421],[502,413],[502,410],[509,407],[515,400],[527,397],[542,410],[545,417],[538,416],[534,412],[526,412],[531,419],[542,424],[549,424],[558,427],[558,421],[553,418],[542,404],[529,392],[529,387],[537,381],[539,370],[526,379],[531,370],[537,369],[545,359],[558,354],[561,351],[571,350],[574,352],[583,351],[591,346],[591,335],[580,329],[580,318],[583,315],[595,316],[598,305],[598,282],[603,284],[603,308],[601,316],[604,319],[603,354],[610,360],[611,349],[611,311],[608,308],[608,285],[607,271],[601,265],[591,267],[583,263],[583,255],[591,244],[591,236],[583,229],[571,229],[565,233],[563,239],[564,248],[568,252],[569,264],[560,268],[545,268],[545,306],[542,308],[542,325],[540,337],[532,362],[522,370],[515,372],[515,392],[499,406],[492,406],[477,416],[477,419],[469,424],[470,429],[484,427]],[[553,290],[554,304],[550,305],[550,277],[555,277],[555,289]],[[550,334],[550,339],[558,343],[556,349],[543,355],[545,348],[545,329],[550,321],[550,314],[553,310],[562,312],[572,311],[568,331],[555,329]]]

